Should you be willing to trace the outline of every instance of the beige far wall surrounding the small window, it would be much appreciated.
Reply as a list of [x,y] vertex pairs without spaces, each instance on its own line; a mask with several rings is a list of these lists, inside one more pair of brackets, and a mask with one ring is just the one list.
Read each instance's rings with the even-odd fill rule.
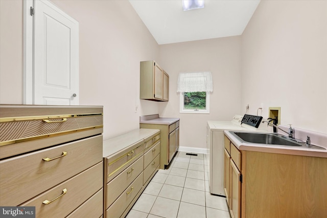
[[[180,118],[180,146],[205,148],[208,120],[229,121],[241,113],[241,36],[161,45],[160,60],[170,76],[169,102],[160,103],[160,116]],[[210,114],[180,114],[178,74],[203,71],[213,76]]]

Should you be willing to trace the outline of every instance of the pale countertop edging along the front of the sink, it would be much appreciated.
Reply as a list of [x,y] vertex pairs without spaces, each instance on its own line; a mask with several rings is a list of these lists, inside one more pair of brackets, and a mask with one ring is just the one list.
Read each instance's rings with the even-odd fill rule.
[[320,147],[326,148],[325,150],[314,149],[314,148],[305,148],[305,147],[282,146],[282,145],[278,146],[278,145],[266,145],[266,144],[253,144],[253,143],[245,143],[245,142],[239,141],[228,130],[225,130],[224,134],[229,138],[229,140],[239,150],[249,150],[249,151],[268,152],[268,153],[275,153],[275,154],[327,158],[327,145],[326,144],[323,144],[323,145],[319,144]]

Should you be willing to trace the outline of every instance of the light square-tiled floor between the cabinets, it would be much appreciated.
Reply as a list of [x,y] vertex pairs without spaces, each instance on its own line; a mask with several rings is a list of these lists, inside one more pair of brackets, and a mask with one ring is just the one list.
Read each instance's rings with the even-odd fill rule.
[[209,193],[203,154],[178,152],[168,169],[160,169],[127,218],[229,218],[226,199]]

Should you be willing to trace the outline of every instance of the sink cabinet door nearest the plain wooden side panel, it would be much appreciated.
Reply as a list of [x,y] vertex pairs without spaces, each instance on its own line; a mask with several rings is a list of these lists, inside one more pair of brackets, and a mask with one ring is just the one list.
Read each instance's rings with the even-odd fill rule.
[[230,203],[229,212],[232,218],[241,217],[241,172],[235,165],[235,163],[230,159]]

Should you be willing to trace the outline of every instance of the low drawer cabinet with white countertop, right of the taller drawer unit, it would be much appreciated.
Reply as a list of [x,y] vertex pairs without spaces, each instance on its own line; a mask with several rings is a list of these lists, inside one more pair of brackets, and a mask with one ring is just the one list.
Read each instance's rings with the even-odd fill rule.
[[125,217],[159,169],[160,131],[135,129],[105,140],[104,214]]

